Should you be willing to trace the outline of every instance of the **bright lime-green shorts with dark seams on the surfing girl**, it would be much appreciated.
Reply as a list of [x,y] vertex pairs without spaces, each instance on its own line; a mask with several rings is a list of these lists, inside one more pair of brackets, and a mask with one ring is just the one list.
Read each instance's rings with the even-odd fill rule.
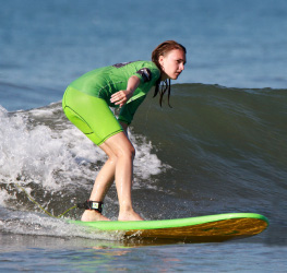
[[68,119],[96,145],[123,131],[103,98],[89,96],[69,86],[63,95],[62,107]]

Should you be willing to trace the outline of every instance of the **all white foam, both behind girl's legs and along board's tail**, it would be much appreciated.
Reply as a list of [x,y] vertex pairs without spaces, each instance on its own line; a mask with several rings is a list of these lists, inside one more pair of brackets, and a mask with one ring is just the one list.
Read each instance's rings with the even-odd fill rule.
[[[53,194],[74,199],[83,189],[87,192],[92,190],[93,180],[107,158],[106,154],[68,120],[63,120],[63,116],[57,116],[57,110],[59,110],[58,106],[49,110],[44,108],[9,114],[0,107],[0,185],[7,185],[0,190],[0,205],[5,206],[5,202],[11,203],[11,200],[19,198],[19,191],[13,189],[14,186],[8,190],[10,183],[13,185],[15,181],[21,183],[32,197],[38,187],[46,193],[49,192],[47,200],[45,200],[46,193],[43,199],[37,198],[40,205],[46,209],[52,201]],[[53,121],[51,112],[55,114],[56,127],[50,124]],[[136,150],[134,187],[154,188],[155,186],[152,186],[148,179],[153,175],[165,171],[168,166],[152,153],[153,144],[144,136],[131,131],[130,139]],[[144,183],[141,183],[142,180]],[[73,197],[70,197],[71,189],[74,192]],[[117,203],[117,199],[106,201]],[[53,218],[47,221],[43,214],[14,212],[9,213],[9,218],[0,223],[1,229],[33,235],[55,235],[57,230],[59,236],[72,235],[103,239],[103,233],[87,235],[86,230],[80,227],[75,229],[71,225],[67,226],[61,221]],[[106,239],[110,238],[108,235]]]

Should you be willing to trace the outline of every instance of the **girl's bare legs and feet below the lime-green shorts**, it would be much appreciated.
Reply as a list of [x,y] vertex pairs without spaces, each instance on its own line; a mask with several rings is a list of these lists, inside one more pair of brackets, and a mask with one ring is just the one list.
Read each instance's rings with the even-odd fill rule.
[[[89,200],[103,201],[116,175],[116,187],[120,204],[118,219],[143,219],[133,211],[131,199],[134,147],[125,133],[120,132],[109,138],[100,145],[100,149],[108,155],[108,161],[98,173]],[[94,210],[86,210],[82,221],[108,221],[108,218]]]

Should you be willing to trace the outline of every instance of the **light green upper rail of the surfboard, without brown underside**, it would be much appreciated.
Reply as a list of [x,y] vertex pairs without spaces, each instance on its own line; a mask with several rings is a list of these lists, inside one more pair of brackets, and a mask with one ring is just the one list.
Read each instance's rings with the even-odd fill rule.
[[256,218],[262,219],[268,225],[268,219],[256,213],[225,213],[207,216],[196,216],[189,218],[175,219],[154,219],[154,221],[98,221],[98,222],[82,222],[69,221],[71,224],[92,227],[99,230],[135,230],[135,229],[158,229],[174,228],[206,224],[212,222],[237,219],[237,218]]

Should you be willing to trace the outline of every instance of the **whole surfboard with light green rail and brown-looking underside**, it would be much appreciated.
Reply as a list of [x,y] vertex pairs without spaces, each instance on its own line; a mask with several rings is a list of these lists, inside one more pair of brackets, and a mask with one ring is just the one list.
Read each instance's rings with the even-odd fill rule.
[[268,219],[255,213],[228,213],[156,221],[69,221],[89,230],[121,233],[124,238],[172,239],[186,242],[220,242],[262,233]]

